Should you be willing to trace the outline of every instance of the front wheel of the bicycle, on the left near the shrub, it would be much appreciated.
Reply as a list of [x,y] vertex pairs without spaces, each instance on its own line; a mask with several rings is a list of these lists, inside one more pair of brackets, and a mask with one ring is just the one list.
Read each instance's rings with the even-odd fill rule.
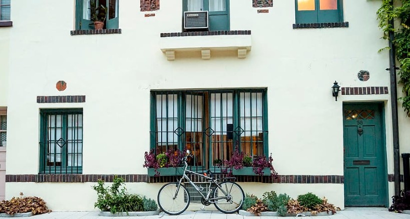
[[187,189],[182,184],[178,188],[178,182],[169,182],[158,191],[158,205],[162,211],[170,215],[184,212],[189,202],[190,196]]

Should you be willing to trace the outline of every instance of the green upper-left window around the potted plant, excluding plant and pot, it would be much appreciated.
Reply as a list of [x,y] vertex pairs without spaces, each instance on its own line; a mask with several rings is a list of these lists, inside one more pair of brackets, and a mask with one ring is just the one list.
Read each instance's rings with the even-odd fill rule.
[[76,30],[94,29],[90,6],[103,5],[107,8],[104,29],[118,29],[119,0],[76,0]]

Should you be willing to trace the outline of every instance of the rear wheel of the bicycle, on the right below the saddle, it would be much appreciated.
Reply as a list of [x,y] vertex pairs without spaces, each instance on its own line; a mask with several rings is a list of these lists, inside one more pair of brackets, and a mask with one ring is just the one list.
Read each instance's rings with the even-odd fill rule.
[[245,194],[240,185],[224,181],[214,191],[215,207],[224,213],[234,213],[241,209]]

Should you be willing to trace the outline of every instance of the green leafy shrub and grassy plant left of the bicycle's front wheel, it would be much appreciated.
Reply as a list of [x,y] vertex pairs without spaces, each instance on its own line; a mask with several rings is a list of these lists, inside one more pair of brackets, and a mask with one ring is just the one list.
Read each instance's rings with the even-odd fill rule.
[[[124,179],[114,177],[111,186],[104,186],[104,181],[98,179],[97,185],[92,188],[97,191],[97,202],[94,207],[98,207],[102,211],[127,212],[128,211],[144,211],[144,200],[137,194],[127,193],[124,186]],[[155,203],[156,204],[156,203]]]

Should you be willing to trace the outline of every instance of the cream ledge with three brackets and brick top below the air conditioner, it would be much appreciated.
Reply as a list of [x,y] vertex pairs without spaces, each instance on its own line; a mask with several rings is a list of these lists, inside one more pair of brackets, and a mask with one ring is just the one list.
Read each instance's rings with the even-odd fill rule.
[[176,52],[200,51],[202,59],[210,59],[212,50],[237,50],[245,58],[251,50],[251,30],[168,32],[161,33],[161,50],[167,60],[175,60]]

